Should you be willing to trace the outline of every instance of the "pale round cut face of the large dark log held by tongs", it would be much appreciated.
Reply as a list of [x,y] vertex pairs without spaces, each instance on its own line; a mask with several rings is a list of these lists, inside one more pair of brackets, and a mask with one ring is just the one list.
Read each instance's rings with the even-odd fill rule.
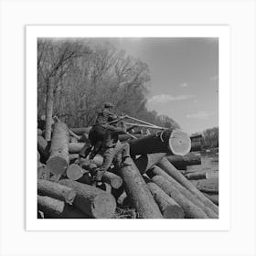
[[191,149],[191,140],[187,133],[174,130],[169,138],[169,148],[174,155],[187,155]]

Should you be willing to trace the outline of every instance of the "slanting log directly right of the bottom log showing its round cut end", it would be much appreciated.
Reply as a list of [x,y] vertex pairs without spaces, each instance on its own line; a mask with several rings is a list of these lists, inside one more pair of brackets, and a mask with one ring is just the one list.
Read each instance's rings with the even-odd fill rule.
[[154,176],[152,180],[161,187],[167,195],[172,197],[176,203],[183,209],[187,219],[208,219],[208,215],[180,193],[176,187],[173,187],[165,177]]

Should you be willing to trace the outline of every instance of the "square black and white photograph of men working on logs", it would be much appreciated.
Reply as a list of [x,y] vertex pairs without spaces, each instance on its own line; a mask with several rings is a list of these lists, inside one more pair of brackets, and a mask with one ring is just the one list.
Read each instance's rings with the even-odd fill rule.
[[219,37],[37,37],[37,219],[219,219],[222,171]]

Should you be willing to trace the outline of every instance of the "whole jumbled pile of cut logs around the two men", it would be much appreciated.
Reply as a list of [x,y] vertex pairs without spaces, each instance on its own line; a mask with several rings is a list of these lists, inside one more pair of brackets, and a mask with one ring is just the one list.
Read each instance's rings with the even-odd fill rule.
[[102,156],[81,157],[84,143],[76,137],[89,131],[69,129],[58,121],[48,143],[43,132],[37,131],[38,218],[219,218],[218,177],[187,173],[187,165],[200,165],[201,159],[188,154],[191,142],[186,133],[138,134],[137,139],[125,134],[122,140],[131,147],[130,165],[113,161],[101,182],[95,183],[93,174],[101,166]]

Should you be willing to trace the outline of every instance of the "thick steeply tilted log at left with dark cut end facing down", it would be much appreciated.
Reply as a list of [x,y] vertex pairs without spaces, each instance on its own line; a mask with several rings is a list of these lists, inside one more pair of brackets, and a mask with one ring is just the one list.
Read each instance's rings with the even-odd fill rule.
[[48,170],[61,176],[69,165],[69,129],[66,123],[54,123],[50,156],[47,161]]

